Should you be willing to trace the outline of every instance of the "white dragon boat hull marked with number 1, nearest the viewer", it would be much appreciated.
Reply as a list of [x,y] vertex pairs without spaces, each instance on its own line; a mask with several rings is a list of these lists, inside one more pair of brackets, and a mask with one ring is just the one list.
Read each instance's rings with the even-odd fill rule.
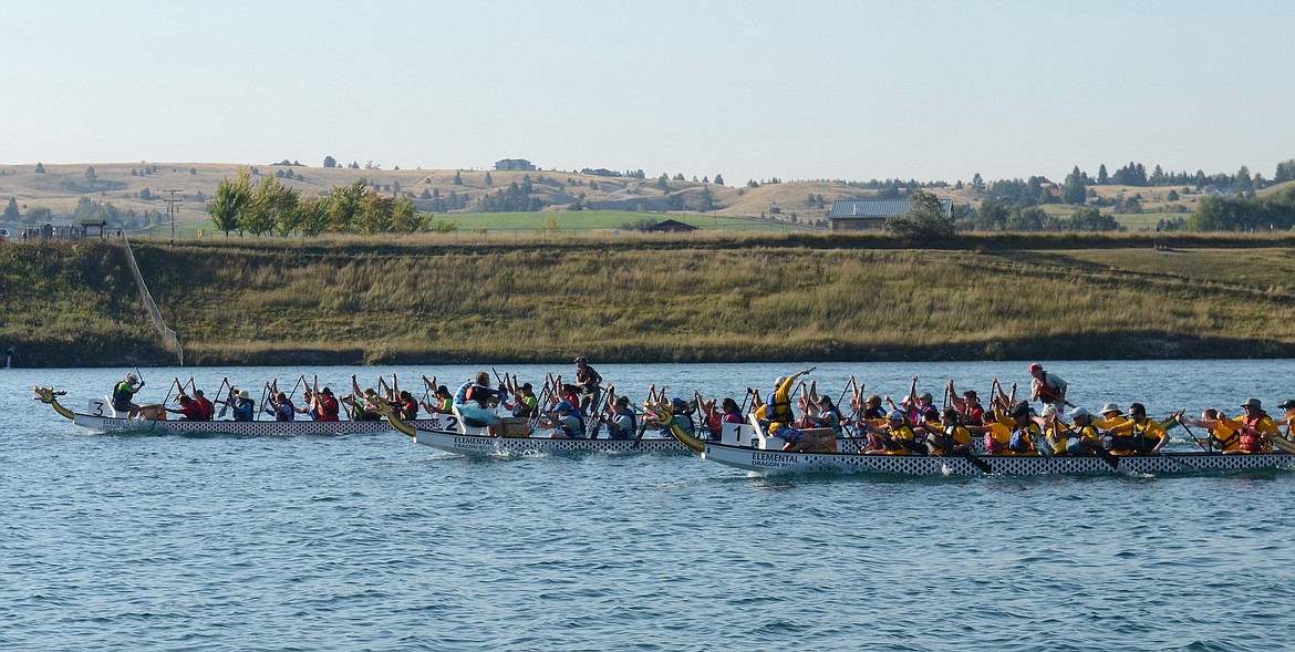
[[[754,417],[750,423],[725,423],[719,441],[701,441],[688,433],[675,434],[702,459],[758,473],[846,472],[892,476],[1050,476],[1110,474],[1162,476],[1202,472],[1295,469],[1295,455],[1278,452],[1224,455],[1221,452],[1162,452],[1159,455],[1026,456],[1026,455],[865,455],[859,447],[847,451],[785,452],[782,439],[769,437]],[[838,443],[842,443],[838,439]],[[1281,442],[1287,443],[1287,442]],[[847,445],[852,446],[852,445]],[[847,447],[842,446],[842,447]]]

